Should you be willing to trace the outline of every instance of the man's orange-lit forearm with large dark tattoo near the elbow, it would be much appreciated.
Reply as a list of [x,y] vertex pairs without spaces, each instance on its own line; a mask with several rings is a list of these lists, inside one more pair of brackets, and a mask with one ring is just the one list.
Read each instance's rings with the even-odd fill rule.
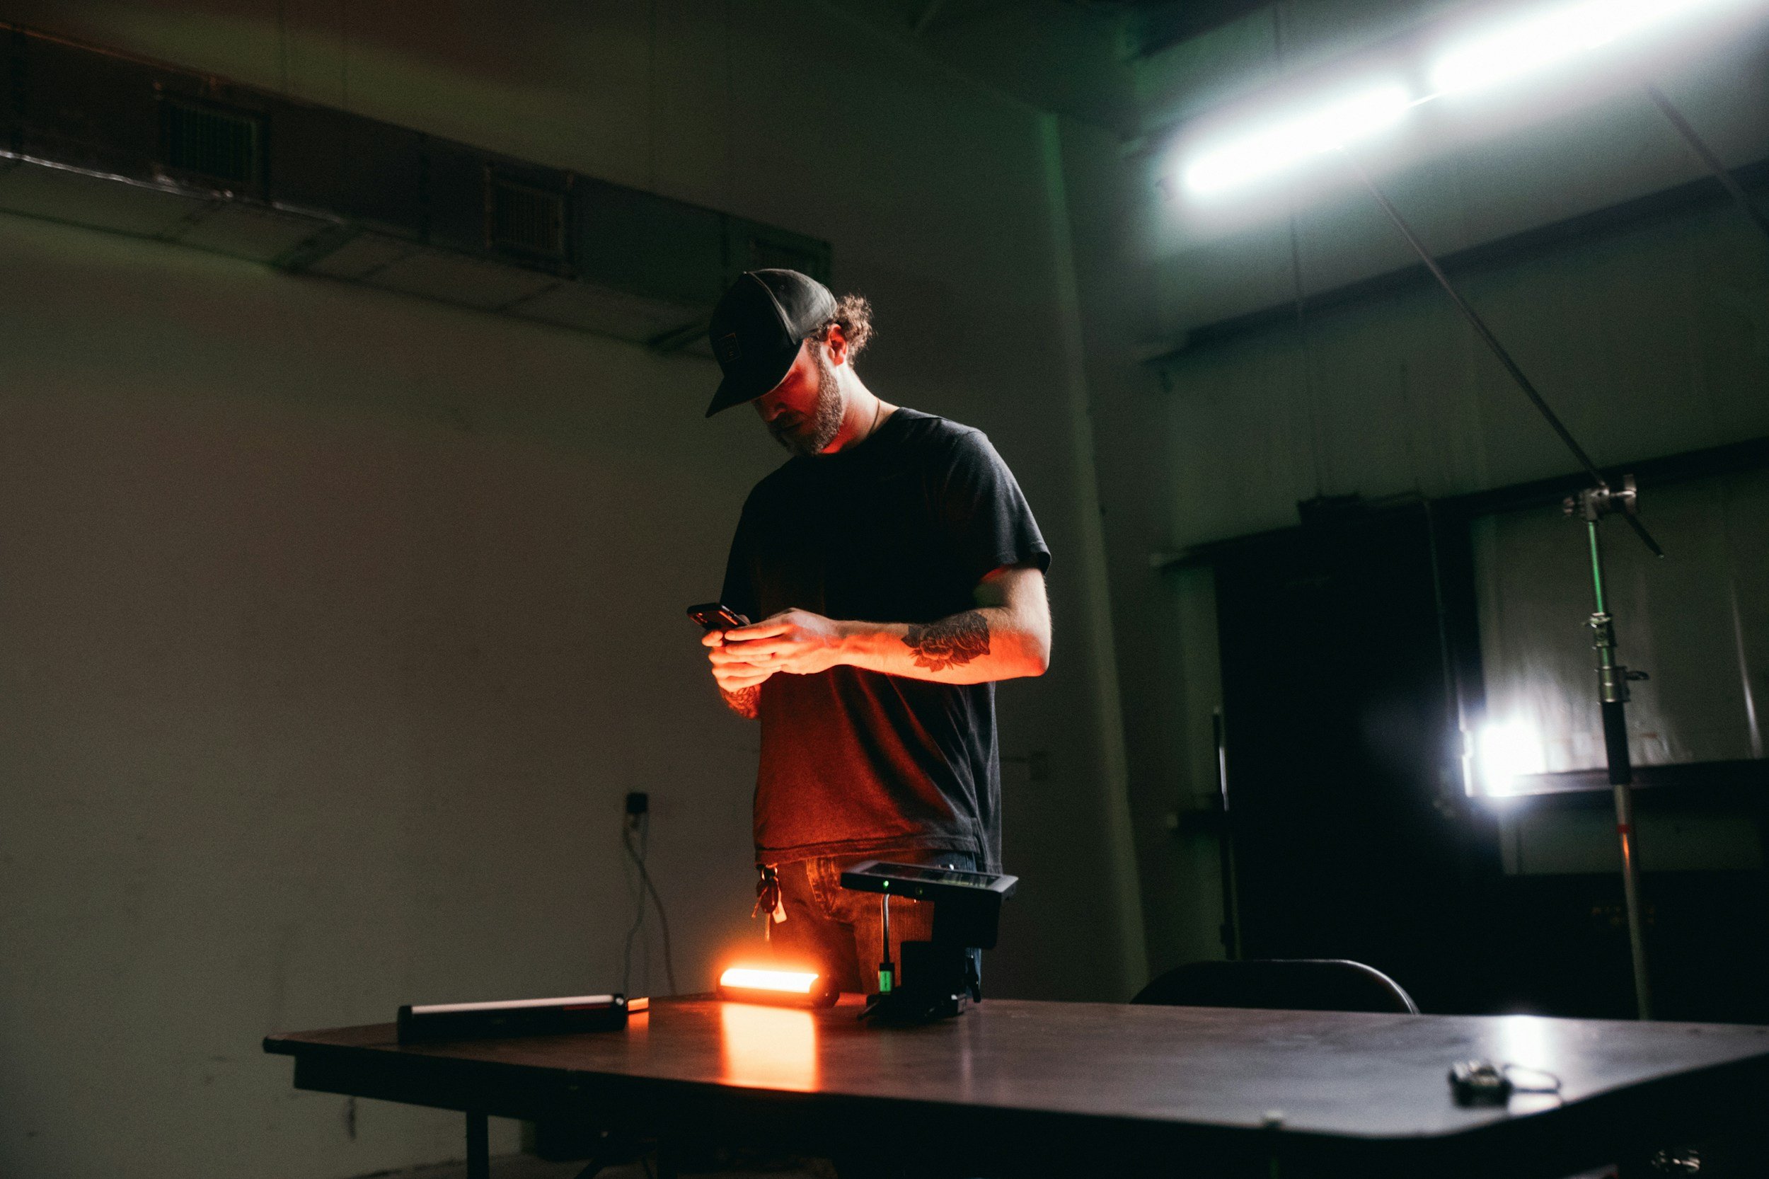
[[842,625],[842,662],[936,683],[987,683],[1044,674],[1047,643],[1014,611],[976,607],[930,623]]

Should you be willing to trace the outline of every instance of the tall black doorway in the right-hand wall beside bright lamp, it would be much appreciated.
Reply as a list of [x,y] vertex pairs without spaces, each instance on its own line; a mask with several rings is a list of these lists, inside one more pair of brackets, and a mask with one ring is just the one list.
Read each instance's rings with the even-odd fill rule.
[[1215,556],[1245,958],[1352,958],[1479,1011],[1481,882],[1422,505],[1346,506]]

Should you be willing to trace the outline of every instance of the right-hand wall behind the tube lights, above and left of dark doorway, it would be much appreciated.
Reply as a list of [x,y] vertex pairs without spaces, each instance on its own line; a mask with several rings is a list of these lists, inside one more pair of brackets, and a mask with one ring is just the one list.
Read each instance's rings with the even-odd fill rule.
[[[1077,186],[1132,814],[1150,959],[1221,952],[1214,841],[1168,830],[1214,793],[1206,572],[1150,554],[1295,524],[1314,496],[1458,494],[1573,467],[1424,283],[1137,365],[1199,326],[1412,260],[1343,166],[1206,207],[1157,186],[1252,110],[1424,60],[1479,5],[1286,2],[1137,64],[1146,135],[1118,184]],[[1645,69],[1728,163],[1769,156],[1769,30],[1665,42]],[[1088,133],[1070,133],[1079,158]],[[1093,145],[1100,168],[1114,145]],[[1364,150],[1438,251],[1698,179],[1626,73],[1438,103]],[[1758,193],[1758,196],[1762,196]],[[1723,198],[1458,273],[1468,299],[1601,464],[1769,432],[1769,243]],[[1647,492],[1650,512],[1650,489]],[[1576,543],[1576,542],[1573,542]],[[1619,540],[1617,543],[1622,543]],[[1573,605],[1585,609],[1583,602]]]

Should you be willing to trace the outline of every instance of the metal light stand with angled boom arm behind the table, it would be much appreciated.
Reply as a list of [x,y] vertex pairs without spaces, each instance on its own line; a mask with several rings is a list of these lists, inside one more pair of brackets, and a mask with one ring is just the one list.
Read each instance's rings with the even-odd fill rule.
[[1422,241],[1419,241],[1419,235],[1413,234],[1399,209],[1396,209],[1382,189],[1376,188],[1376,182],[1369,177],[1364,166],[1357,163],[1352,152],[1344,150],[1344,147],[1339,150],[1346,161],[1350,161],[1352,170],[1357,172],[1364,188],[1369,189],[1369,195],[1376,198],[1382,211],[1389,214],[1390,221],[1394,221],[1394,228],[1401,232],[1406,244],[1412,246],[1413,253],[1419,255],[1419,260],[1426,264],[1428,271],[1431,271],[1431,276],[1444,289],[1444,294],[1451,297],[1451,303],[1454,303],[1456,310],[1463,313],[1468,326],[1474,328],[1474,333],[1481,336],[1488,349],[1491,349],[1493,356],[1498,358],[1498,363],[1504,365],[1507,374],[1511,374],[1511,379],[1520,389],[1523,389],[1523,395],[1530,398],[1530,404],[1541,411],[1543,418],[1548,420],[1548,425],[1553,427],[1553,432],[1560,435],[1562,443],[1566,443],[1566,448],[1573,451],[1578,466],[1585,469],[1587,476],[1590,476],[1590,487],[1576,496],[1571,496],[1566,501],[1566,510],[1567,515],[1578,515],[1585,520],[1585,533],[1590,545],[1590,579],[1597,609],[1590,614],[1587,625],[1592,632],[1592,646],[1597,651],[1597,701],[1603,708],[1603,752],[1610,768],[1610,788],[1615,793],[1615,834],[1622,848],[1622,894],[1627,903],[1627,949],[1631,952],[1635,970],[1635,1007],[1638,1009],[1642,1020],[1650,1020],[1652,990],[1647,979],[1647,947],[1643,922],[1640,917],[1640,848],[1635,836],[1633,804],[1635,770],[1627,758],[1626,712],[1627,682],[1643,680],[1645,673],[1631,673],[1627,667],[1615,662],[1615,620],[1608,613],[1608,604],[1603,593],[1603,549],[1597,538],[1597,522],[1612,512],[1620,512],[1622,519],[1627,520],[1627,526],[1635,529],[1635,535],[1640,536],[1647,549],[1652,551],[1652,556],[1661,558],[1665,556],[1665,551],[1659,549],[1658,542],[1652,540],[1652,535],[1635,515],[1638,499],[1635,478],[1631,474],[1624,476],[1620,490],[1610,487],[1608,480],[1603,478],[1603,473],[1599,473],[1596,464],[1590,462],[1590,455],[1585,453],[1585,448],[1578,444],[1578,439],[1574,439],[1571,430],[1566,428],[1566,423],[1560,421],[1558,414],[1548,407],[1548,402],[1535,391],[1530,379],[1523,375],[1518,363],[1511,359],[1505,345],[1498,342],[1486,322],[1472,306],[1468,306],[1467,299],[1463,299],[1456,287],[1449,281],[1449,274],[1444,273],[1444,267],[1438,266],[1436,258],[1431,257],[1431,251],[1426,250]]

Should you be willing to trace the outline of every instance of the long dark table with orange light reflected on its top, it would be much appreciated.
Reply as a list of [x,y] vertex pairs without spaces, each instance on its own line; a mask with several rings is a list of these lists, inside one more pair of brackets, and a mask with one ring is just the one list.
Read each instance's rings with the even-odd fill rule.
[[[807,1154],[869,1144],[982,1174],[1566,1175],[1755,1126],[1769,1027],[992,998],[927,1027],[658,1000],[626,1030],[402,1048],[393,1025],[271,1036],[295,1085],[467,1114],[593,1119]],[[1458,1106],[1452,1060],[1560,1080]]]

